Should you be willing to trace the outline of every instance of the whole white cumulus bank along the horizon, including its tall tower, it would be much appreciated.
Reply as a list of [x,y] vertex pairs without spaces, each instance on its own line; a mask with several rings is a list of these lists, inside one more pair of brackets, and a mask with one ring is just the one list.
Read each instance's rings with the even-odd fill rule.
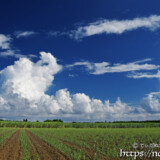
[[20,58],[1,70],[0,117],[130,120],[131,117],[145,118],[150,112],[160,112],[159,100],[153,97],[153,93],[145,97],[139,107],[130,106],[120,98],[114,103],[103,102],[85,93],[71,94],[67,89],[60,89],[55,95],[46,94],[62,68],[51,53],[40,52],[37,62]]

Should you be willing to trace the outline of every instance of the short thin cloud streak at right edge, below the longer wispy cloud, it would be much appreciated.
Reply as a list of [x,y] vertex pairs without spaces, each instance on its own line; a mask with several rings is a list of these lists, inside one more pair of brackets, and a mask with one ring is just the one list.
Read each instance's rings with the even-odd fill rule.
[[160,78],[160,70],[157,71],[157,73],[131,73],[128,74],[127,77],[134,78],[134,79],[140,79],[140,78]]

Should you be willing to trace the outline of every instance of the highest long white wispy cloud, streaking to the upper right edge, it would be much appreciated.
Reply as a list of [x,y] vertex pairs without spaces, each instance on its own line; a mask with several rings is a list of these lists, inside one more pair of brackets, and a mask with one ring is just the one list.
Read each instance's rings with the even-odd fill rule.
[[151,15],[149,17],[137,17],[126,20],[98,20],[85,26],[79,26],[68,35],[71,38],[81,39],[96,34],[122,34],[126,31],[132,31],[138,28],[147,28],[151,31],[160,27],[160,16]]

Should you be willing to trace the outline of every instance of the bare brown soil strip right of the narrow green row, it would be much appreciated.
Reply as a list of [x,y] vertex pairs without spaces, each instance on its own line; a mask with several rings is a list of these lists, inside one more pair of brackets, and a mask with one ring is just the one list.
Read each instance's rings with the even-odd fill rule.
[[31,159],[35,160],[70,160],[67,155],[47,144],[32,132],[25,130],[31,146]]

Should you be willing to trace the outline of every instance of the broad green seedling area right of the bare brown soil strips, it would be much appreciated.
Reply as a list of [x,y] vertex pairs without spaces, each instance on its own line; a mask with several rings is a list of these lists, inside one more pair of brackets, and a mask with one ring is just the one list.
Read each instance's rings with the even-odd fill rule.
[[[136,151],[133,144],[160,144],[160,129],[30,129],[34,134],[76,160],[120,158],[120,149]],[[142,149],[142,148],[139,148]],[[146,152],[149,148],[143,148]],[[158,150],[157,150],[158,149]],[[160,148],[156,148],[160,151]]]

